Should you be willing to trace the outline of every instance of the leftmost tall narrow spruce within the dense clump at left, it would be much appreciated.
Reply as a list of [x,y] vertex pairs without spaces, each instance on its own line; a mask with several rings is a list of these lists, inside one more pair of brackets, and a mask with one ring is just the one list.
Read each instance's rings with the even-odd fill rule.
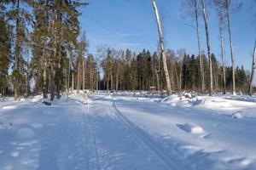
[[32,73],[36,88],[43,91],[44,99],[47,98],[50,77],[49,59],[52,49],[49,48],[49,6],[47,1],[36,1],[32,4],[34,21],[32,32]]

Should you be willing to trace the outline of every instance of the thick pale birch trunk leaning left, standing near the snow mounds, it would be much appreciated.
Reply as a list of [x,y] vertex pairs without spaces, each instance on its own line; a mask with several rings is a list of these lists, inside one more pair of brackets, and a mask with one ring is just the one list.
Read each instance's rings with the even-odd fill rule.
[[162,55],[163,59],[163,64],[164,64],[164,71],[166,74],[166,84],[167,84],[167,93],[172,94],[172,86],[171,86],[171,81],[170,81],[170,76],[167,68],[167,63],[166,63],[166,54],[165,54],[165,46],[164,46],[164,37],[163,37],[163,31],[162,31],[162,26],[160,22],[160,17],[158,13],[158,8],[156,6],[155,0],[152,0],[153,3],[153,8],[154,8],[154,14],[158,26],[158,33],[159,33],[159,38],[160,38],[160,53]]

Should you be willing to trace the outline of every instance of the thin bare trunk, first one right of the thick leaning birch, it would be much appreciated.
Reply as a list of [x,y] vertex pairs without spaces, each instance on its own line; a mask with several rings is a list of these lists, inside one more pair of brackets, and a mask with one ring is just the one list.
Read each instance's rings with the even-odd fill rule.
[[197,37],[197,44],[198,44],[198,55],[199,55],[199,61],[200,61],[200,73],[201,73],[201,94],[205,92],[205,72],[203,67],[203,59],[201,56],[201,43],[200,43],[200,37],[199,37],[199,24],[198,24],[198,4],[197,1],[195,1],[195,25],[196,25],[196,37]]

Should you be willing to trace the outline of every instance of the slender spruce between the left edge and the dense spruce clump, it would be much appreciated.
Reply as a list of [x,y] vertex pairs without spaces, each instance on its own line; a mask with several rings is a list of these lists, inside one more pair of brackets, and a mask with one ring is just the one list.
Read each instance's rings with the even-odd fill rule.
[[15,27],[14,37],[15,37],[15,47],[14,47],[14,65],[11,75],[12,83],[14,84],[15,99],[18,99],[20,92],[26,84],[25,76],[25,65],[26,61],[22,56],[22,46],[27,40],[27,28],[32,21],[32,15],[24,7],[23,3],[27,5],[32,5],[32,1],[21,1],[21,0],[5,0],[5,3],[10,5],[7,12],[7,17],[12,20],[12,24]]

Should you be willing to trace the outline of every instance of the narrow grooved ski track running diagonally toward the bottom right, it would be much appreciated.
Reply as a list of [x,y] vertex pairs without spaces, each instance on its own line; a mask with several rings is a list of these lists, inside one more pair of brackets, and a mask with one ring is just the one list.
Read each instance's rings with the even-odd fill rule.
[[127,119],[116,107],[114,101],[111,103],[112,116],[115,116],[122,124],[128,128],[131,133],[137,136],[143,144],[145,144],[149,150],[152,150],[156,156],[160,158],[161,161],[165,162],[168,167],[171,169],[182,170],[183,168],[178,166],[175,161],[168,155],[166,155],[165,151],[160,148],[158,144],[154,142],[153,139],[148,135],[148,133],[144,132],[141,128],[137,127],[133,122]]

